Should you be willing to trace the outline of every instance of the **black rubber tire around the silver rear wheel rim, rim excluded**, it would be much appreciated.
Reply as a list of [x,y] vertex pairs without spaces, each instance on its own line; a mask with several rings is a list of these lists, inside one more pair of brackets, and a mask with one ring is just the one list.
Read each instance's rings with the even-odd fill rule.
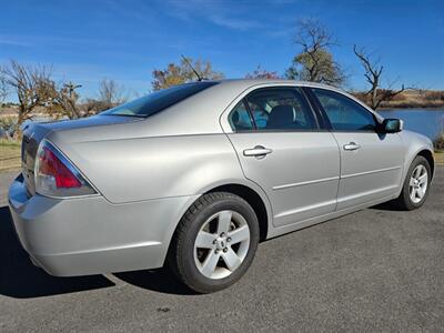
[[[213,214],[224,210],[235,211],[245,219],[250,228],[250,248],[242,264],[232,274],[224,279],[213,280],[202,275],[195,266],[194,242],[203,223]],[[178,244],[181,248],[181,271],[185,283],[192,289],[205,293],[224,289],[238,281],[249,269],[259,243],[259,223],[253,209],[241,198],[220,199],[196,212],[190,222],[183,242]]]

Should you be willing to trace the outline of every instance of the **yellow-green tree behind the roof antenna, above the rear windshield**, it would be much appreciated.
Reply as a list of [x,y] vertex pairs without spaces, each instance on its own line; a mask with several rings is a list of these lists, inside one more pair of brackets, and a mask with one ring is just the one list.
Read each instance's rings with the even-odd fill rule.
[[[223,79],[223,73],[214,71],[210,61],[195,60],[186,58],[195,71],[204,79],[219,80]],[[184,59],[180,63],[169,63],[163,70],[154,69],[152,72],[152,89],[161,90],[172,85],[191,82],[198,80],[198,75]]]

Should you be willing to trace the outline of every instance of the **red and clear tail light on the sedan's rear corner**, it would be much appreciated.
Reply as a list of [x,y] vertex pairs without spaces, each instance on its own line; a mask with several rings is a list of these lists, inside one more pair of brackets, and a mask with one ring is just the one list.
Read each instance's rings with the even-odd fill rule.
[[49,141],[42,141],[36,158],[36,191],[48,196],[94,194],[74,165]]

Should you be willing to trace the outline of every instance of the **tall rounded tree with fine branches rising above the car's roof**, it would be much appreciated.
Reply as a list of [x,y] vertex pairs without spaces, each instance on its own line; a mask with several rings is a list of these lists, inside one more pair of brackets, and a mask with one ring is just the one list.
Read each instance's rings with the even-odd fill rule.
[[294,42],[301,46],[302,51],[294,57],[287,69],[287,78],[333,85],[344,83],[346,75],[331,52],[337,42],[320,21],[300,20]]

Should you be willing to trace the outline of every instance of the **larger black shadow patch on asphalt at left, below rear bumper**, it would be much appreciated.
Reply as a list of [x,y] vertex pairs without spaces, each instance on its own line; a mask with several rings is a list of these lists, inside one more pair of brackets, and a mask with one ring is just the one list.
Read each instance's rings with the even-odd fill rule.
[[36,268],[17,239],[8,206],[0,208],[0,294],[28,299],[112,285],[102,275],[54,278]]

